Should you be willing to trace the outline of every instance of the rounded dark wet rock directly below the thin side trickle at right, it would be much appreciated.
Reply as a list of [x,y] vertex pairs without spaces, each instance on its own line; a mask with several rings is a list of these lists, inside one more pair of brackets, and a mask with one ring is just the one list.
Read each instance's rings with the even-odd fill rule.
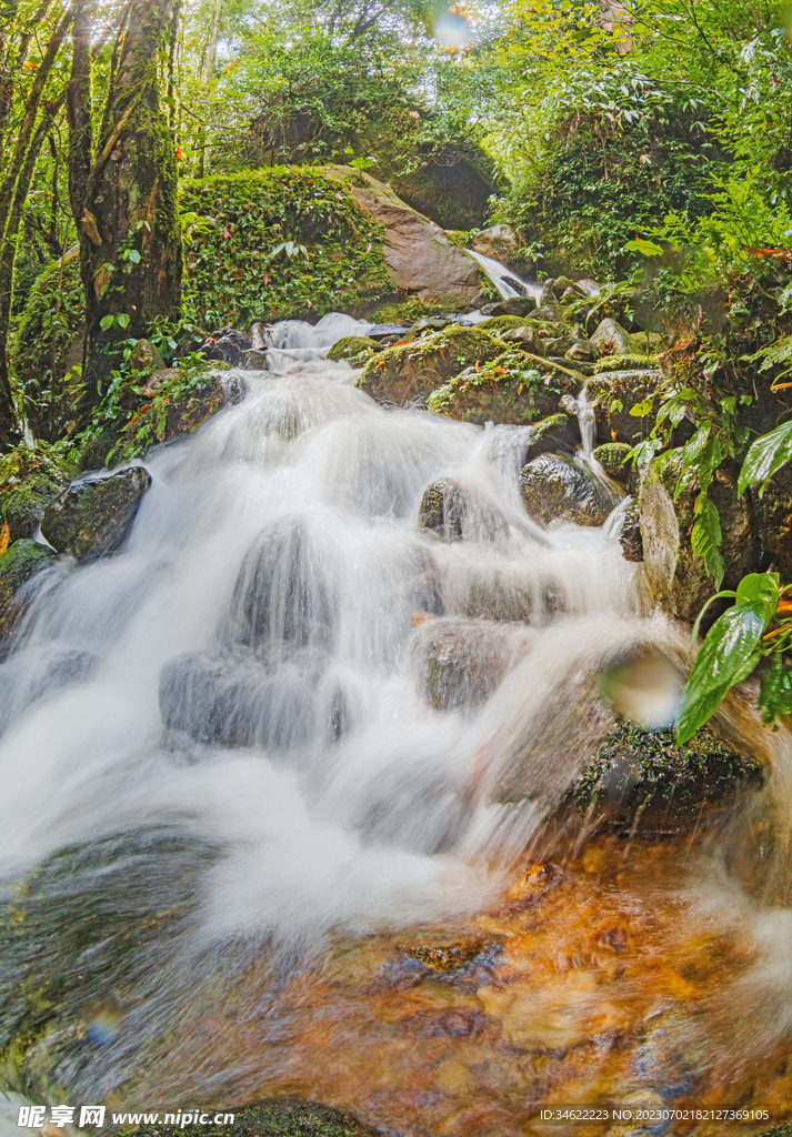
[[545,454],[523,466],[520,492],[529,516],[544,525],[552,521],[602,525],[619,504],[610,485],[564,455]]

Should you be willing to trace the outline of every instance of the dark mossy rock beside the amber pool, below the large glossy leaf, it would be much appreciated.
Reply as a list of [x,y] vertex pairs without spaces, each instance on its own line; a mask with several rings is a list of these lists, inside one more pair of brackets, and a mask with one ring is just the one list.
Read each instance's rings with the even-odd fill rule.
[[674,831],[699,823],[703,810],[723,807],[764,781],[760,762],[732,750],[712,727],[683,746],[671,729],[647,731],[621,722],[602,739],[570,790],[581,812],[602,812],[616,828]]

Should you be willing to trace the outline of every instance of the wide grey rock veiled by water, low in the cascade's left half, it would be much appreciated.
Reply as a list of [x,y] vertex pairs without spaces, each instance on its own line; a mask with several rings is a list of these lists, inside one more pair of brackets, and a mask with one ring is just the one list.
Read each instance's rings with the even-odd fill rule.
[[346,712],[323,686],[325,659],[307,649],[246,647],[188,652],[159,677],[163,723],[198,742],[289,750],[320,736],[340,736]]

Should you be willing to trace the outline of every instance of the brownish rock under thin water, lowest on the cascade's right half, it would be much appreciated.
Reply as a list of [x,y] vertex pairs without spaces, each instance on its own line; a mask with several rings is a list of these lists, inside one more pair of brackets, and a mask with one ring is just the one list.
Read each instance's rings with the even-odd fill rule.
[[480,706],[530,647],[530,630],[487,620],[445,617],[415,629],[419,690],[436,711]]

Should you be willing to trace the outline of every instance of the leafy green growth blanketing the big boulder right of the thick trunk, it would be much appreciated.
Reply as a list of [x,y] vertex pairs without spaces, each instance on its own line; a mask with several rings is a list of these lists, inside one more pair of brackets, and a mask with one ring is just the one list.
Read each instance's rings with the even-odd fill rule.
[[322,315],[394,291],[381,227],[348,184],[314,167],[185,182],[181,213],[187,291],[206,326]]

